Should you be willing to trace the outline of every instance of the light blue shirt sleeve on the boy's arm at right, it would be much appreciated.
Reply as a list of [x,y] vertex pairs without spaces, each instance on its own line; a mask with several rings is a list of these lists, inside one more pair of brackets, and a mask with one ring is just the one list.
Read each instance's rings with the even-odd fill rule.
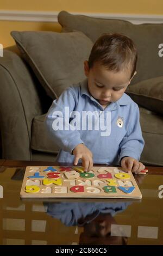
[[120,143],[118,162],[121,163],[122,157],[125,156],[133,157],[139,161],[144,145],[145,141],[142,137],[140,126],[139,107],[134,102],[134,107],[130,112],[128,131]]

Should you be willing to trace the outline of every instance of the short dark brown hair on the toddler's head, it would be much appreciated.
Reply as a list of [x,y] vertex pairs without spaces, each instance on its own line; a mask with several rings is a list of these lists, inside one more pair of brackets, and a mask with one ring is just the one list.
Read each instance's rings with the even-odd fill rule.
[[128,36],[123,34],[102,34],[92,47],[88,60],[89,68],[99,62],[108,70],[120,71],[131,69],[134,75],[137,62],[136,46]]

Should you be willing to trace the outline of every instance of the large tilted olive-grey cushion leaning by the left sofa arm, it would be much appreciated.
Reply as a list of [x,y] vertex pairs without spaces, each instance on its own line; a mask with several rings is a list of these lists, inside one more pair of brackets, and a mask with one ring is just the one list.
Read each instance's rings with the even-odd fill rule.
[[12,31],[11,35],[52,99],[84,79],[92,41],[82,32]]

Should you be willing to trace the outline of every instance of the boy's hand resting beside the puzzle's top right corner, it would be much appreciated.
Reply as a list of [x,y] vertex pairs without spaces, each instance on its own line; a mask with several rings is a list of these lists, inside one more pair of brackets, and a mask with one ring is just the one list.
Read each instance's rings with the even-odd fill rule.
[[143,163],[129,156],[123,157],[121,167],[128,172],[131,170],[133,173],[140,173],[141,170],[145,169]]

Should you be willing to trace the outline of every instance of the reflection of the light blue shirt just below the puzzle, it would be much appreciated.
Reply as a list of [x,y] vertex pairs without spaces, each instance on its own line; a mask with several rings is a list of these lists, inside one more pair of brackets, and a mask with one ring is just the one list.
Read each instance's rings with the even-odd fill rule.
[[47,214],[58,218],[67,226],[83,226],[93,221],[99,214],[116,214],[123,212],[131,202],[121,203],[44,203]]

